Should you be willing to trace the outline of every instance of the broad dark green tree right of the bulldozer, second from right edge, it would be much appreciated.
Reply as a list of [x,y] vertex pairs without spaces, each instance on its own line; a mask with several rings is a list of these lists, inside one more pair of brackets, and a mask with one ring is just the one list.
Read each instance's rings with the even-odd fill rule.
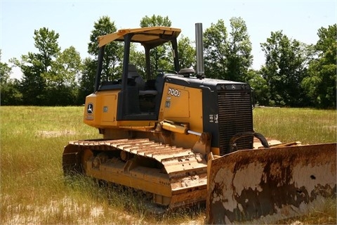
[[261,47],[266,58],[261,71],[270,87],[270,105],[305,106],[308,101],[299,85],[306,76],[305,44],[277,31]]

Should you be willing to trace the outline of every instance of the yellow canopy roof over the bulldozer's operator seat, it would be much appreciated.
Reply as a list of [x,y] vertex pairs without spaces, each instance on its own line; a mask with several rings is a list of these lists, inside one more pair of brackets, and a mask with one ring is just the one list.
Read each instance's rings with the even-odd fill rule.
[[98,45],[101,47],[109,44],[111,41],[124,41],[124,36],[126,34],[133,33],[131,42],[139,42],[145,46],[149,45],[153,47],[169,41],[167,39],[161,39],[163,34],[169,37],[178,37],[180,32],[180,29],[173,27],[143,27],[118,30],[112,34],[99,36],[97,39]]

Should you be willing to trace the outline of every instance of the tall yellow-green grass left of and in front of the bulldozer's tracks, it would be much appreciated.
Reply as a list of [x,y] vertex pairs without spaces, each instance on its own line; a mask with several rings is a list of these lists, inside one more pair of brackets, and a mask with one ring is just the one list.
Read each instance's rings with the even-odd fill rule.
[[154,217],[136,196],[82,176],[67,181],[62,174],[63,147],[72,140],[101,138],[97,129],[83,123],[83,107],[0,110],[0,224],[180,224],[194,217],[203,221],[200,209]]

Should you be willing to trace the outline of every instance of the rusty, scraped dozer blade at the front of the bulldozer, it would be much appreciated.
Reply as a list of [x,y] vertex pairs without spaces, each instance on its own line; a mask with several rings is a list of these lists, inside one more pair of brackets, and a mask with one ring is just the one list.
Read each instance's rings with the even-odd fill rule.
[[336,143],[239,150],[208,164],[206,224],[270,224],[336,198]]

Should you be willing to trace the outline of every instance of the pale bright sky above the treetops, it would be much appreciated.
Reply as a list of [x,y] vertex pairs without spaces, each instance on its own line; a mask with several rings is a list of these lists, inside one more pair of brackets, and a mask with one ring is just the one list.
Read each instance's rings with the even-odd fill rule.
[[[230,18],[241,17],[252,43],[253,68],[258,70],[265,62],[260,48],[271,32],[282,30],[290,39],[305,44],[316,44],[317,31],[337,23],[337,1],[269,0],[157,0],[157,1],[16,1],[0,0],[1,63],[11,58],[20,59],[34,47],[34,30],[47,27],[60,37],[61,50],[70,46],[79,51],[81,58],[88,56],[88,42],[93,25],[102,16],[109,16],[117,29],[140,27],[147,16],[168,16],[171,27],[180,28],[180,36],[195,40],[195,23],[203,30],[224,20],[230,30]],[[14,68],[11,77],[20,78]]]

